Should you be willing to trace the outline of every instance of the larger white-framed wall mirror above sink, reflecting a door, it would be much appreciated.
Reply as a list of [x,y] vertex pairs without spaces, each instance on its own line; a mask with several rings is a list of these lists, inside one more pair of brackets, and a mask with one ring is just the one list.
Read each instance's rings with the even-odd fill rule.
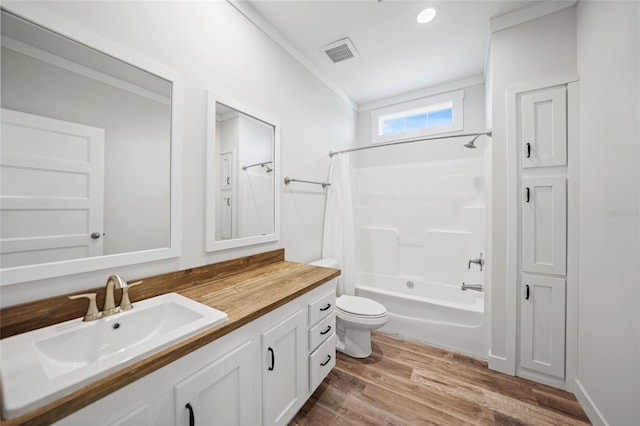
[[2,10],[2,284],[179,255],[177,78],[20,12]]

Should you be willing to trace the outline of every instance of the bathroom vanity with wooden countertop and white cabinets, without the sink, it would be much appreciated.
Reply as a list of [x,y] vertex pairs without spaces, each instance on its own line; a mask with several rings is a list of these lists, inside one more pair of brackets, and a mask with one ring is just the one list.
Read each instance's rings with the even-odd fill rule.
[[[134,308],[177,292],[228,321],[2,424],[286,424],[335,365],[338,275],[276,250],[146,278],[131,290]],[[60,296],[5,309],[2,337],[84,308]]]

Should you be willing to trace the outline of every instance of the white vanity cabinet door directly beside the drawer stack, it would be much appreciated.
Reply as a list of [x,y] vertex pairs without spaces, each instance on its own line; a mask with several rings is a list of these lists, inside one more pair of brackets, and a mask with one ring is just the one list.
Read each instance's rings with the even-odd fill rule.
[[263,424],[287,424],[305,402],[308,380],[305,309],[262,334]]

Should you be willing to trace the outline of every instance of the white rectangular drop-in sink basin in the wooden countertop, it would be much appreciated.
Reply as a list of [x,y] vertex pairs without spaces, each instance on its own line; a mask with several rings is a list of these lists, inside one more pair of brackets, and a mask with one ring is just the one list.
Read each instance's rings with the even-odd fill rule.
[[20,416],[227,320],[177,293],[96,321],[81,318],[0,341],[2,415]]

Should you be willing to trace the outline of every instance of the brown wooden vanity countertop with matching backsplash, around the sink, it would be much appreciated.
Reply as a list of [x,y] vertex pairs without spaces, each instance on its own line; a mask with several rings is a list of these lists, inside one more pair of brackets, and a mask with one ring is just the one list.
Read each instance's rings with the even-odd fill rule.
[[[145,279],[145,283],[130,290],[134,306],[135,301],[163,293],[177,292],[226,312],[229,319],[224,324],[205,330],[23,416],[2,420],[0,424],[6,426],[44,425],[60,420],[338,275],[340,275],[340,271],[337,269],[285,261],[284,250],[276,250]],[[101,290],[102,294],[100,294]],[[99,299],[104,297],[104,289],[98,288],[95,291],[99,292]],[[56,318],[51,318],[47,316],[46,312],[42,313],[41,311],[55,311],[50,306],[52,304],[54,307],[68,305],[77,305],[77,307],[74,313],[64,312],[57,315]],[[102,306],[101,301],[98,306]],[[80,314],[76,315],[78,308]],[[75,301],[71,302],[66,296],[4,309],[0,311],[2,337],[50,325],[48,323],[54,324],[64,321],[65,319],[60,320],[64,316],[75,315],[71,318],[82,316],[84,309],[86,306],[81,303],[76,304]],[[34,312],[39,315],[34,315]],[[31,315],[29,315],[30,313]],[[27,318],[31,319],[30,325],[24,324]]]

